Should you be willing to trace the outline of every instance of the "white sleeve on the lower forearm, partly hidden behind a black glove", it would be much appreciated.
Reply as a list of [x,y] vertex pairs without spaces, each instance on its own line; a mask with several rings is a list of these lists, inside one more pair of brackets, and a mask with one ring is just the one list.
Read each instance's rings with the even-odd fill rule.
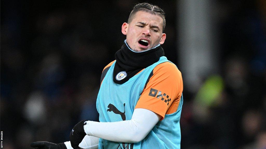
[[[67,149],[73,149],[70,141],[64,143]],[[99,143],[98,137],[86,135],[78,146],[85,149],[98,149],[98,143]]]

